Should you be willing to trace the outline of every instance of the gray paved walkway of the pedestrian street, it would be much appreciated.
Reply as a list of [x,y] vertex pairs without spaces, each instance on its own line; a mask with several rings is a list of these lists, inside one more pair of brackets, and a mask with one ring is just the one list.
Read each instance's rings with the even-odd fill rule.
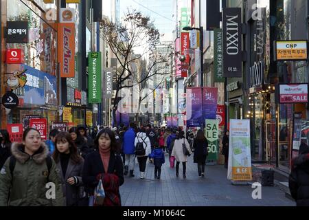
[[187,162],[187,179],[182,177],[182,164],[176,177],[167,154],[161,179],[154,178],[154,170],[147,162],[146,178],[139,179],[139,166],[135,164],[135,177],[125,177],[120,187],[122,206],[295,206],[276,187],[262,187],[262,199],[252,199],[253,188],[231,185],[227,169],[221,165],[206,166],[205,178],[200,179],[193,156]]

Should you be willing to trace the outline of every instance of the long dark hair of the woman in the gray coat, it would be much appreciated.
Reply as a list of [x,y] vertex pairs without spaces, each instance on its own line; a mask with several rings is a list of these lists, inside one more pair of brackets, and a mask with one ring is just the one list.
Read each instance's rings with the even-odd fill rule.
[[82,162],[82,157],[80,157],[80,155],[78,155],[78,149],[77,149],[75,143],[73,142],[70,133],[65,132],[65,131],[58,133],[58,135],[56,135],[56,137],[55,137],[55,151],[53,153],[53,158],[54,158],[55,162],[58,163],[59,156],[60,156],[60,152],[58,151],[58,148],[57,148],[57,142],[62,142],[62,141],[69,142],[70,158],[71,158],[71,160],[73,161],[74,164],[80,164],[80,162]]

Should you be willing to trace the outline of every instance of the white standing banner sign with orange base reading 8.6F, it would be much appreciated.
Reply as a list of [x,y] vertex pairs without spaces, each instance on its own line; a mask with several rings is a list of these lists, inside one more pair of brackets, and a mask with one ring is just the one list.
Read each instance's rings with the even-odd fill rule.
[[230,120],[227,179],[251,181],[250,120]]

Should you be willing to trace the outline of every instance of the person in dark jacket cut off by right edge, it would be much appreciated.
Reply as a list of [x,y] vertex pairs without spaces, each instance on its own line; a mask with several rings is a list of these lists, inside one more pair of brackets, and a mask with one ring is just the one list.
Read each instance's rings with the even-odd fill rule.
[[299,156],[293,159],[289,177],[290,193],[297,206],[309,206],[309,146],[306,140],[299,146]]

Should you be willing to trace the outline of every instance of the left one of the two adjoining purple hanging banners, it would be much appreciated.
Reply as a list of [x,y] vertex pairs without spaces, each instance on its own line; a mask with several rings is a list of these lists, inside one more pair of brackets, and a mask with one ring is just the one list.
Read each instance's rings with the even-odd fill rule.
[[187,89],[187,127],[201,126],[202,88]]

